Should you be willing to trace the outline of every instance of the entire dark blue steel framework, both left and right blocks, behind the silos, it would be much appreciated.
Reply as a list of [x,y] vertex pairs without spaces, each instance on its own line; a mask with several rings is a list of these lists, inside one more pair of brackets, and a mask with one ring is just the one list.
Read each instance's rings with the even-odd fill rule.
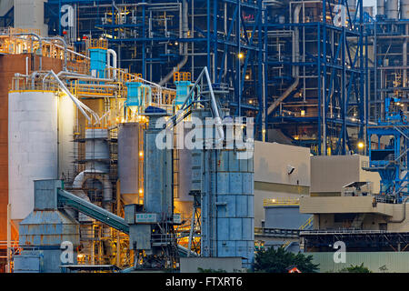
[[[271,140],[265,129],[274,127],[317,155],[355,151],[365,138],[368,119],[363,0],[294,1],[277,8],[268,3],[49,0],[47,15],[50,31],[57,28],[61,34],[54,16],[61,16],[61,5],[73,5],[79,18],[76,35],[108,36],[118,52],[119,66],[155,82],[169,85],[174,70],[191,72],[195,79],[204,66],[209,67],[214,87],[228,92],[226,102],[234,114],[255,117],[257,139]],[[345,5],[348,19],[353,19],[346,27],[334,25],[337,4]],[[303,5],[303,17],[296,23],[291,19],[295,5]],[[306,19],[305,11],[314,16]],[[280,16],[286,18],[284,22],[274,20]],[[269,49],[269,35],[287,30],[298,31],[300,60],[277,57],[276,50]],[[293,42],[282,36],[276,39],[286,42],[284,53],[293,52]],[[283,74],[277,73],[277,66],[283,67]],[[294,84],[295,67],[301,82],[278,102]],[[302,103],[297,100],[300,95]],[[274,101],[278,105],[269,112]]]

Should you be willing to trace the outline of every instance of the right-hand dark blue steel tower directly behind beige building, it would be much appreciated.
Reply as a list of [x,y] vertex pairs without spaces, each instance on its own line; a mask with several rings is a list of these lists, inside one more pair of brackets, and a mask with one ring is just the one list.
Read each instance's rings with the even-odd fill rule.
[[[273,78],[268,75],[267,69],[265,79],[268,95],[271,95],[271,91],[284,95],[289,84],[294,83],[298,76],[303,84],[294,87],[280,105],[281,108],[270,112],[268,120],[287,135],[292,135],[295,143],[310,146],[315,154],[340,155],[348,150],[355,151],[358,142],[364,141],[364,125],[367,123],[367,55],[364,55],[367,43],[361,21],[363,14],[356,13],[363,11],[362,0],[352,6],[344,0],[294,1],[291,4],[302,5],[302,12],[298,10],[298,13],[303,16],[290,19],[290,23],[268,23],[264,26],[277,34],[285,30],[298,30],[300,54],[297,57],[301,60],[286,60],[285,55],[272,60],[269,51],[266,65],[268,68],[287,65],[293,70],[298,67],[300,73],[295,78],[294,74],[290,75],[293,72],[287,69],[284,71],[287,74],[282,74],[277,80],[277,74]],[[334,5],[337,4],[345,5],[347,19],[352,19],[346,27],[334,25]],[[293,10],[290,7],[290,10],[295,14],[296,8]],[[309,16],[305,13],[307,10],[308,13],[312,11]],[[322,15],[326,15],[325,21]],[[300,41],[302,38],[304,41]],[[305,39],[312,45],[308,45]],[[283,84],[288,85],[281,91],[277,90]],[[301,97],[302,100],[298,101]],[[303,134],[309,138],[300,138],[299,135]],[[353,134],[354,139],[351,138]]]

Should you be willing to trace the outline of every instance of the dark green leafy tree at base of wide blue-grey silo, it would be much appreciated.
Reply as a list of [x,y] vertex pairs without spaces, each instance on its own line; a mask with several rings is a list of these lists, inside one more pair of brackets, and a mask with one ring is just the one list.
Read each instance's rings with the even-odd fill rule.
[[266,273],[287,273],[289,266],[296,266],[302,273],[316,273],[318,266],[312,262],[313,256],[287,252],[283,247],[260,250],[254,258],[254,271]]

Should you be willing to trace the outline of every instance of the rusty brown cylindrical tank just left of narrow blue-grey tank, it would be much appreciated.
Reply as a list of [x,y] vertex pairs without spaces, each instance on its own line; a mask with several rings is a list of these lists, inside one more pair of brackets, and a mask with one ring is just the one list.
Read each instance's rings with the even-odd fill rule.
[[[118,177],[124,204],[140,204],[139,160],[143,148],[139,149],[139,123],[125,123],[118,128]],[[142,152],[142,156],[139,156]]]

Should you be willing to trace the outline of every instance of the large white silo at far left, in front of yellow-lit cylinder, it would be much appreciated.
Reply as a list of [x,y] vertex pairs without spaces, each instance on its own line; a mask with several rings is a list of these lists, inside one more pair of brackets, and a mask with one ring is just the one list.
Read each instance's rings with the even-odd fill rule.
[[34,208],[34,180],[56,179],[57,96],[19,91],[8,95],[8,188],[11,219]]

